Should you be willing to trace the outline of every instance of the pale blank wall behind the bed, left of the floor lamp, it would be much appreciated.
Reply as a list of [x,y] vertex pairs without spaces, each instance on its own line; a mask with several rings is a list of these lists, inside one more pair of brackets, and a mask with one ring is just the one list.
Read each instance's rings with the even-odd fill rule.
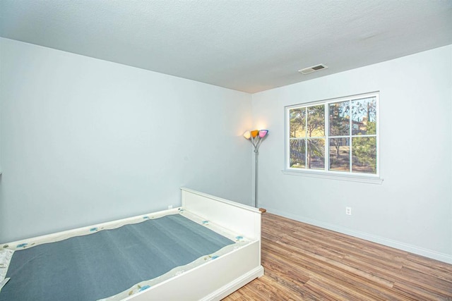
[[0,242],[180,204],[251,204],[251,95],[0,39]]

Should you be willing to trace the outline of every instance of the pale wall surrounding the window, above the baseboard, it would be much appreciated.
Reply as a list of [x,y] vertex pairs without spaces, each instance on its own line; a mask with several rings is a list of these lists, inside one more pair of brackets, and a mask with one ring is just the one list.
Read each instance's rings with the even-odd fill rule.
[[[284,106],[374,91],[382,185],[281,172]],[[253,94],[253,114],[270,130],[259,154],[261,207],[452,263],[452,45]]]

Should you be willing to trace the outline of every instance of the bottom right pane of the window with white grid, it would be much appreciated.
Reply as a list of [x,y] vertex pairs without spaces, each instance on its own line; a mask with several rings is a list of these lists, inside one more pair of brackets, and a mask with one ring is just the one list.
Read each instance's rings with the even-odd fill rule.
[[376,173],[376,137],[352,137],[352,172]]

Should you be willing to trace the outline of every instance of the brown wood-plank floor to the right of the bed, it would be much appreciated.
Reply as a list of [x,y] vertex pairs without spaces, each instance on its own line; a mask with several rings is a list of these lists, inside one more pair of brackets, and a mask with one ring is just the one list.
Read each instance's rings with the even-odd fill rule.
[[262,214],[265,275],[232,300],[452,301],[452,265]]

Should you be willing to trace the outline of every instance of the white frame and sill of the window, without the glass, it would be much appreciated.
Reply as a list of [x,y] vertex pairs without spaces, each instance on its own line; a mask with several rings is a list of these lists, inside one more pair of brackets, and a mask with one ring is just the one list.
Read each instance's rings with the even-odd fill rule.
[[[329,171],[328,166],[329,162],[329,154],[330,154],[330,145],[329,145],[329,111],[328,104],[336,103],[336,102],[345,102],[355,99],[363,99],[369,97],[376,97],[376,173],[352,173],[351,171]],[[293,168],[290,167],[290,110],[297,108],[304,108],[307,106],[316,106],[319,104],[324,105],[325,109],[325,169],[308,169],[308,168]],[[381,184],[383,183],[383,178],[381,177],[381,162],[380,162],[380,111],[379,111],[379,92],[369,92],[364,94],[355,94],[347,97],[339,97],[334,99],[324,99],[317,102],[308,102],[304,104],[295,104],[291,106],[285,106],[285,168],[283,169],[283,173],[292,176],[309,176],[314,178],[328,178],[335,180],[350,180],[355,182],[362,183],[373,183],[373,184]],[[352,118],[350,118],[350,123],[352,123]],[[350,128],[351,130],[351,128]],[[345,135],[350,137],[350,144],[352,143],[351,137],[352,135]],[[366,137],[365,135],[363,135]],[[337,136],[334,136],[337,137]],[[351,156],[351,152],[350,152]],[[352,168],[352,164],[350,164],[350,168]]]

